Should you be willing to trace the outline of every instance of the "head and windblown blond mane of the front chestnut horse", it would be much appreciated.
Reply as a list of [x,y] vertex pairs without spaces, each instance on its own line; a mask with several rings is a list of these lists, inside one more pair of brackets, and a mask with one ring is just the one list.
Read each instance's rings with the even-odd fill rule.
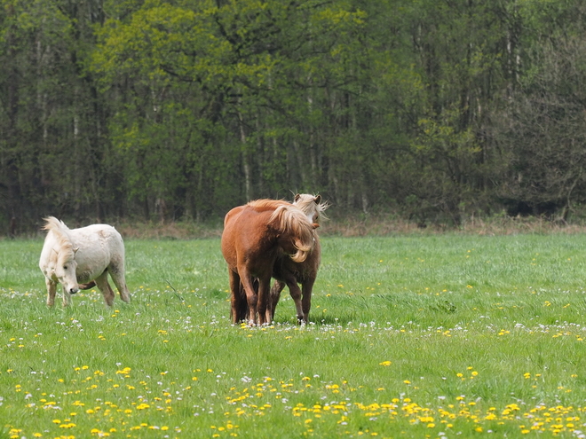
[[274,210],[269,220],[269,223],[273,222],[279,231],[291,236],[293,246],[297,249],[295,254],[289,255],[291,260],[303,263],[315,245],[315,225],[307,220],[300,209],[287,204]]

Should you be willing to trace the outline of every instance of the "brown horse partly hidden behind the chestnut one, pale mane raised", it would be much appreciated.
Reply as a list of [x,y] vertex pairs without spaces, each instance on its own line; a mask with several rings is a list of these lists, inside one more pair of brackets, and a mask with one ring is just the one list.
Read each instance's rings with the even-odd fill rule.
[[[327,202],[321,202],[320,195],[314,196],[306,193],[297,193],[293,205],[301,209],[312,223],[319,223],[320,216],[324,216],[323,211],[329,208]],[[271,310],[273,312],[271,321],[273,321],[274,310],[281,298],[281,291],[287,285],[289,286],[289,294],[295,302],[297,322],[308,323],[309,310],[312,307],[313,283],[317,278],[321,262],[321,245],[316,231],[313,231],[313,239],[315,239],[315,245],[305,261],[295,262],[281,256],[276,259],[273,265],[273,278],[276,281],[271,288]],[[301,289],[299,289],[298,283],[301,284]]]

